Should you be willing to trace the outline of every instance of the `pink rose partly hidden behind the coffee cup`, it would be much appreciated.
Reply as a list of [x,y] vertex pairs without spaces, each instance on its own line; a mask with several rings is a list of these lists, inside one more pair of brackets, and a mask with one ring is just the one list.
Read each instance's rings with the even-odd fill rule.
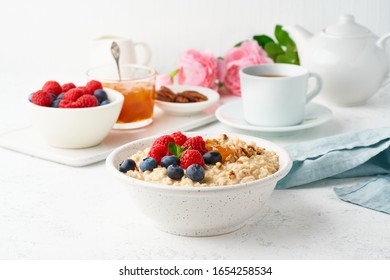
[[218,65],[220,82],[234,95],[241,95],[240,69],[255,65],[273,63],[257,41],[245,41],[239,47],[227,51],[225,59]]

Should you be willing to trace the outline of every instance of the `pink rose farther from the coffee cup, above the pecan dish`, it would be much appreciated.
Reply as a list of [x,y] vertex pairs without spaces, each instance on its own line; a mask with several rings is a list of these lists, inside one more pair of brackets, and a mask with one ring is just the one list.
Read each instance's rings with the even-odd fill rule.
[[212,54],[187,50],[179,60],[178,83],[216,89],[217,69]]

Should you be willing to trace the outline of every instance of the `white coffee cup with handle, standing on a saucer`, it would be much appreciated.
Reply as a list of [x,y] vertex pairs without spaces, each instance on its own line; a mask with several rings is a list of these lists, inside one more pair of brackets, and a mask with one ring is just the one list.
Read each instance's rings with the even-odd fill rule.
[[[315,86],[308,92],[308,80]],[[256,126],[302,123],[306,104],[320,93],[321,78],[293,64],[253,65],[240,70],[245,120]]]

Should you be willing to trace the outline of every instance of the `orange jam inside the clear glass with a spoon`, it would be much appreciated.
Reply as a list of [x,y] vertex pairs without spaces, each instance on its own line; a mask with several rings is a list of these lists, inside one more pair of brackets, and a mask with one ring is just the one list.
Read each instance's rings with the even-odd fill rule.
[[139,122],[153,117],[155,95],[154,83],[104,82],[103,87],[117,90],[124,96],[123,107],[117,123]]

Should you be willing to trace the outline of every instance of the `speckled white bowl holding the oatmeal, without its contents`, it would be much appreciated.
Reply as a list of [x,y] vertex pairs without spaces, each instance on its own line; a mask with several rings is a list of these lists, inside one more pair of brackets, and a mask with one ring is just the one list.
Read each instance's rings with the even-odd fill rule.
[[[215,138],[218,134],[185,133]],[[271,195],[276,183],[291,168],[291,159],[278,145],[264,139],[238,135],[244,141],[273,150],[279,155],[279,170],[260,180],[216,187],[179,187],[137,180],[119,172],[119,164],[138,150],[150,147],[156,137],[137,140],[115,149],[106,160],[108,171],[128,186],[129,198],[161,230],[185,236],[212,236],[241,228]],[[233,134],[228,134],[233,137]]]

